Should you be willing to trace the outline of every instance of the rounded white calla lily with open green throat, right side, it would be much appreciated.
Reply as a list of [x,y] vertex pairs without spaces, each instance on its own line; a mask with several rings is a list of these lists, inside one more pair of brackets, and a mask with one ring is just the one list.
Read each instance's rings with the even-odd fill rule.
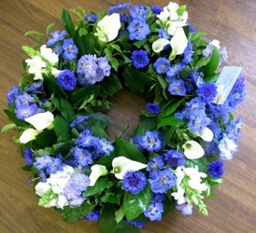
[[200,144],[195,141],[188,141],[186,144],[183,144],[184,155],[189,159],[201,158],[205,155],[205,151]]

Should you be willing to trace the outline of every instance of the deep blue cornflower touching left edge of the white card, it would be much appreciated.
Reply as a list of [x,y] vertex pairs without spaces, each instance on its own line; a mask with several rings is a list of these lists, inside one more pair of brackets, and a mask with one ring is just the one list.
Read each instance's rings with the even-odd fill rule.
[[197,94],[202,97],[204,102],[211,103],[216,98],[217,85],[214,83],[205,83],[197,89]]

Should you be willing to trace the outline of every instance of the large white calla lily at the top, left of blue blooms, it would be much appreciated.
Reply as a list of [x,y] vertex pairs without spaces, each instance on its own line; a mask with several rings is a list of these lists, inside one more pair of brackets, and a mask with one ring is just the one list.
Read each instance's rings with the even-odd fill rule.
[[120,14],[114,13],[105,16],[98,22],[95,35],[103,42],[114,40],[121,29]]

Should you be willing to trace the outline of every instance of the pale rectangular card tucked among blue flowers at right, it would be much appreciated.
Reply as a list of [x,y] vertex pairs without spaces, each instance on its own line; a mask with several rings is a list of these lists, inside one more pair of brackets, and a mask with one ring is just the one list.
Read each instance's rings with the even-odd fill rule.
[[242,69],[243,69],[242,67],[238,67],[238,66],[223,67],[223,69],[220,72],[220,76],[216,82],[218,86],[216,103],[223,104],[226,101]]

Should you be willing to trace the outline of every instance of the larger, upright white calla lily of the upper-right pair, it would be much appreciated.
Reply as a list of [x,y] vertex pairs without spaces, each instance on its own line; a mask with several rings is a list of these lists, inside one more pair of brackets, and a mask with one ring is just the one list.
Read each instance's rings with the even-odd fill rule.
[[175,55],[180,55],[188,45],[188,39],[183,28],[178,28],[176,34],[171,39],[171,47]]

